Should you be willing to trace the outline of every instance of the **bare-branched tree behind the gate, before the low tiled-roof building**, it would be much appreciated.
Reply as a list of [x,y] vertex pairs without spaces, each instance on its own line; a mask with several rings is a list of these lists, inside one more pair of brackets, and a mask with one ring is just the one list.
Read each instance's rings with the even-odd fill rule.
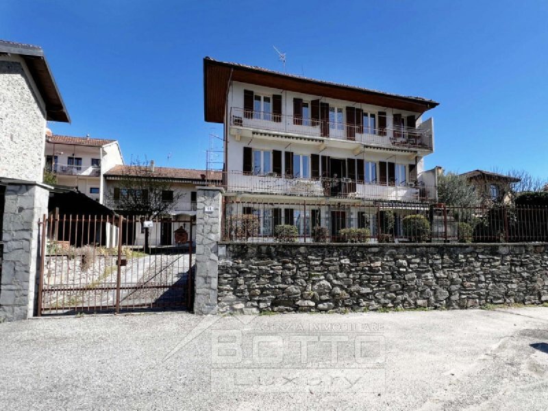
[[[183,193],[173,190],[170,179],[155,169],[153,162],[132,161],[123,166],[123,175],[116,186],[108,193],[114,209],[132,216],[140,216],[141,221],[165,215]],[[145,252],[149,251],[149,228],[145,227]]]

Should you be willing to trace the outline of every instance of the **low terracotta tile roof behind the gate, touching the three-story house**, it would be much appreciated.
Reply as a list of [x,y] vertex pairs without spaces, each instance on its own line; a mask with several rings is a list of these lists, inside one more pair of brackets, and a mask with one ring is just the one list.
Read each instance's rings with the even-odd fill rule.
[[[206,180],[206,170],[197,169],[175,169],[171,167],[154,167],[154,172],[150,173],[150,167],[147,166],[125,166],[118,165],[112,167],[105,173],[105,177],[140,177],[146,175],[153,178],[184,179],[184,180]],[[210,180],[221,181],[221,171],[210,171]]]

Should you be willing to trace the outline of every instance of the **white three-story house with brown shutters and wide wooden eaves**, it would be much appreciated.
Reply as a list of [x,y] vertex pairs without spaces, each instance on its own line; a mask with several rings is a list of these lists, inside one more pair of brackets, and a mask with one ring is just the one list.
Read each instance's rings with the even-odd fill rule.
[[423,162],[434,151],[434,121],[424,114],[436,101],[211,58],[203,70],[206,121],[224,125],[225,212],[245,202],[262,236],[277,224],[297,225],[301,236],[314,225],[332,236],[374,231],[379,213],[360,215],[368,204],[436,197]]

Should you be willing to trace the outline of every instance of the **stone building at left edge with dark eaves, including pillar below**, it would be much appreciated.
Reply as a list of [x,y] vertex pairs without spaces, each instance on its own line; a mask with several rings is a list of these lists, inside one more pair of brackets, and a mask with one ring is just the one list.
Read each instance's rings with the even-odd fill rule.
[[44,51],[0,40],[0,322],[34,313],[47,121],[68,123],[69,114]]

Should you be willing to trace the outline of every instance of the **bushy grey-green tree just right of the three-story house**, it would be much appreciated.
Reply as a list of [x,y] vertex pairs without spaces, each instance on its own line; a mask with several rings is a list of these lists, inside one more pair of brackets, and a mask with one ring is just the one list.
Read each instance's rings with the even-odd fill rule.
[[438,201],[447,206],[475,207],[479,197],[466,177],[444,173],[438,176]]

